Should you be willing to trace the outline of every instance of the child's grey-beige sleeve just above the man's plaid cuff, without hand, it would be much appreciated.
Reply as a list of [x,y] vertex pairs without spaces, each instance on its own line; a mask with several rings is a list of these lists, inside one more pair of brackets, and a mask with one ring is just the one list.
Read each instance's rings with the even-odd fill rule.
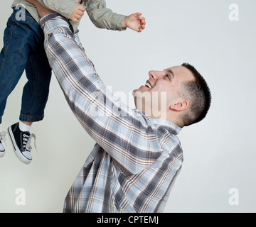
[[75,0],[38,0],[38,2],[68,19],[79,5]]

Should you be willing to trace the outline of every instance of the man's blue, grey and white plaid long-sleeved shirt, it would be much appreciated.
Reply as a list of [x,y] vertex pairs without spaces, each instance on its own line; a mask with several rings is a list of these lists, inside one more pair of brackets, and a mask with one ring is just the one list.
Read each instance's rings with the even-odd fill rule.
[[130,109],[109,92],[65,18],[41,19],[53,72],[78,121],[95,139],[64,212],[162,212],[183,153],[170,121]]

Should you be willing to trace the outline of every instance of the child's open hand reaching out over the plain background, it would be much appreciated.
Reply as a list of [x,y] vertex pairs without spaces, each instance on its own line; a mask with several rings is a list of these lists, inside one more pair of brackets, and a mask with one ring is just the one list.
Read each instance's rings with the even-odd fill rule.
[[124,18],[124,22],[122,24],[123,28],[131,28],[138,33],[142,32],[145,29],[146,21],[145,18],[142,17],[142,13],[133,13],[130,16]]

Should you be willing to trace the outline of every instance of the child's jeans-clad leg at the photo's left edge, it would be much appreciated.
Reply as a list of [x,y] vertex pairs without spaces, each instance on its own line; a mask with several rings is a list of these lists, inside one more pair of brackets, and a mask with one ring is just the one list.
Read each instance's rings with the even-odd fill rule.
[[16,21],[16,13],[14,10],[9,18],[4,31],[4,48],[0,53],[0,123],[7,97],[23,74],[29,52],[29,34],[26,33],[26,26]]

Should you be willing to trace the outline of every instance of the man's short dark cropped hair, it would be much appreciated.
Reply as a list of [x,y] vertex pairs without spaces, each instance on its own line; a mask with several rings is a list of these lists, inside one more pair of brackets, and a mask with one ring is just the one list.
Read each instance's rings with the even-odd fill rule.
[[181,66],[191,71],[194,77],[192,81],[183,83],[183,93],[190,101],[190,108],[183,115],[183,123],[184,126],[190,126],[206,117],[210,109],[211,94],[206,80],[195,67],[188,63],[183,63]]

